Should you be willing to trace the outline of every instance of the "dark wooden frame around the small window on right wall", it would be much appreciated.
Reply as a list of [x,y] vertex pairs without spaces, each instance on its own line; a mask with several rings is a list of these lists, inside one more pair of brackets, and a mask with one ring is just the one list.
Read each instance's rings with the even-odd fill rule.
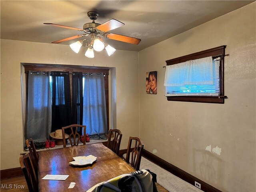
[[195,60],[212,56],[220,58],[220,96],[167,96],[168,101],[184,101],[184,102],[202,102],[202,103],[219,103],[224,104],[224,56],[226,45],[218,46],[208,50],[188,54],[178,58],[166,60],[166,65],[174,65],[188,60]]

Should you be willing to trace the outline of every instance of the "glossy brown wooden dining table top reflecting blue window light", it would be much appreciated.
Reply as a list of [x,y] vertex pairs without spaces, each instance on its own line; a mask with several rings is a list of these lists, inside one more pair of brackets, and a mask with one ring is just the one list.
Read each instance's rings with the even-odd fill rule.
[[[121,174],[134,172],[128,163],[102,143],[45,150],[38,152],[38,184],[40,192],[85,192],[92,186]],[[70,166],[73,157],[93,155],[97,160],[86,166]],[[69,175],[66,180],[42,180],[47,174]],[[74,188],[69,188],[75,182]]]

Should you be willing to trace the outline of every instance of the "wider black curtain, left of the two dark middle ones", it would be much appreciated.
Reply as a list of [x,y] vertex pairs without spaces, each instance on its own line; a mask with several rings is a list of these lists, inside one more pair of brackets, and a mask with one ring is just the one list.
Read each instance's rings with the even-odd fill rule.
[[52,132],[72,124],[69,72],[53,71]]

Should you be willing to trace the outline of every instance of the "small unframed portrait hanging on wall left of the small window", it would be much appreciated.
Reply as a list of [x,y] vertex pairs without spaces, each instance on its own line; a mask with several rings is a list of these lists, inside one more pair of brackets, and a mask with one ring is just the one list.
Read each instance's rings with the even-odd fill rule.
[[157,94],[157,71],[146,72],[146,93]]

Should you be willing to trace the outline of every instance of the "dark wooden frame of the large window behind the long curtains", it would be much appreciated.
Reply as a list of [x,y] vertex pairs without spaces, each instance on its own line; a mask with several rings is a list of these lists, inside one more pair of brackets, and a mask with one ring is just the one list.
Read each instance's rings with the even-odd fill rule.
[[[44,64],[28,64],[22,63],[25,70],[25,77],[26,77],[26,98],[28,98],[28,73],[27,71],[61,71],[61,72],[82,72],[82,73],[103,73],[104,76],[104,83],[105,83],[105,97],[106,97],[106,112],[107,112],[107,126],[109,130],[109,96],[108,96],[108,74],[109,68],[88,68],[86,66],[64,66],[64,65],[44,65]],[[69,75],[70,78],[70,94],[72,100],[72,75]]]

